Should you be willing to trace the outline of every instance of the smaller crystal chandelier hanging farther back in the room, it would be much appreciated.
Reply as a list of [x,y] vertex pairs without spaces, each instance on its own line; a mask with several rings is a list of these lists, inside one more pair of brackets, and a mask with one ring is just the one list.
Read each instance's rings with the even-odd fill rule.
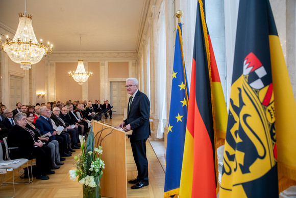
[[[81,57],[81,35],[80,35],[80,57]],[[69,76],[73,77],[73,79],[78,82],[79,85],[82,85],[87,81],[88,77],[92,76],[92,72],[85,72],[83,60],[78,60],[78,65],[76,72],[69,72]]]

